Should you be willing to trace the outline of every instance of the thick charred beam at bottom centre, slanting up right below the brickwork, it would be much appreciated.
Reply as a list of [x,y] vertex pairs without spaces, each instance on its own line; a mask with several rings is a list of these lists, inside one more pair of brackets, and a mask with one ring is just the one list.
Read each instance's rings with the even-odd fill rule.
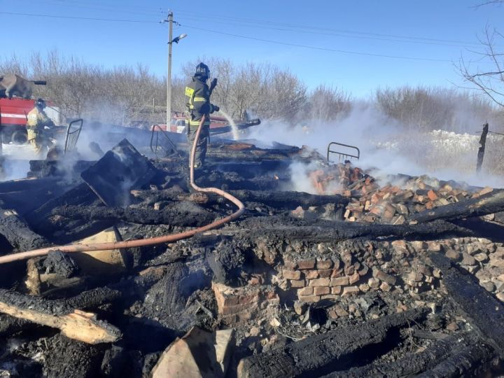
[[352,325],[288,344],[283,348],[244,358],[238,377],[316,377],[362,360],[366,346],[384,342],[389,332],[421,321],[426,309],[413,309],[384,316],[364,324]]

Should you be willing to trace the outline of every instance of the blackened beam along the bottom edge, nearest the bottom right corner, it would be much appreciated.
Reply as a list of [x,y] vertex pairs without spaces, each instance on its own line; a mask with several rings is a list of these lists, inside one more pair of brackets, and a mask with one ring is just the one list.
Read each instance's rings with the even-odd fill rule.
[[[470,351],[470,353],[468,353]],[[400,360],[391,363],[374,362],[362,367],[353,367],[349,370],[332,372],[324,378],[351,378],[351,377],[418,377],[426,370],[436,370],[441,374],[427,374],[428,377],[454,377],[455,372],[442,367],[449,360],[464,360],[458,365],[460,374],[471,372],[493,357],[491,346],[484,344],[474,333],[458,332],[444,339],[438,339],[425,351],[409,353]],[[449,367],[451,365],[448,365]]]

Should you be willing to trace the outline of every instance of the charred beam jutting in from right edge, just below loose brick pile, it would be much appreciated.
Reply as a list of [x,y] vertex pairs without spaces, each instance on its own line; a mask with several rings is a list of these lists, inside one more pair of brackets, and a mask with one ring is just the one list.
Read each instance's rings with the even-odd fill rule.
[[436,207],[432,210],[421,211],[409,216],[409,223],[425,223],[435,219],[446,219],[452,221],[472,216],[484,216],[486,214],[504,211],[504,190],[489,193],[482,197],[472,198],[454,204],[447,204]]

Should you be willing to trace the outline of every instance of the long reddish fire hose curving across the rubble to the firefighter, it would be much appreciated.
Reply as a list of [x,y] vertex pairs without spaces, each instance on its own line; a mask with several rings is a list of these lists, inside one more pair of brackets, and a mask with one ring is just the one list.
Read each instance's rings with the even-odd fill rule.
[[70,252],[90,252],[90,251],[104,251],[111,249],[125,249],[125,248],[136,248],[141,246],[153,246],[156,244],[162,243],[171,243],[173,241],[179,241],[182,239],[187,239],[188,237],[193,237],[194,235],[200,234],[202,232],[213,230],[214,228],[218,228],[225,223],[235,220],[241,214],[243,214],[245,210],[244,204],[238,200],[236,197],[233,197],[229,193],[226,193],[224,190],[218,188],[200,188],[194,182],[194,160],[196,155],[196,146],[198,141],[200,141],[200,134],[204,124],[205,116],[202,117],[200,125],[197,128],[195,141],[193,143],[193,147],[190,152],[190,185],[198,192],[202,193],[216,193],[217,195],[221,195],[226,200],[229,200],[233,204],[235,204],[238,209],[233,214],[226,216],[225,218],[217,219],[216,221],[209,223],[208,225],[204,225],[200,228],[195,228],[193,230],[189,230],[186,232],[180,232],[179,234],[173,235],[163,235],[160,237],[151,237],[149,239],[134,239],[127,241],[114,241],[108,243],[92,243],[92,244],[69,244],[66,246],[52,246],[48,248],[40,248],[34,249],[31,251],[13,253],[11,255],[5,255],[0,257],[0,264],[5,262],[12,262],[18,260],[25,260],[27,258],[34,258],[38,256],[47,255],[50,251],[61,251],[65,253]]

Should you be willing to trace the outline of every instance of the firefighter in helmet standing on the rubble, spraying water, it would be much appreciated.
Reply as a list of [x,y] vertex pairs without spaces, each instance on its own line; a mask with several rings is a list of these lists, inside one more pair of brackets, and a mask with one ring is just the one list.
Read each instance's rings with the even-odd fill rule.
[[211,92],[217,85],[217,79],[212,80],[210,87],[207,85],[207,80],[210,76],[210,70],[207,64],[200,63],[196,66],[193,80],[186,87],[187,109],[189,113],[188,119],[188,142],[189,153],[193,148],[193,143],[196,137],[197,128],[203,116],[205,117],[202,131],[200,132],[200,140],[196,146],[196,155],[194,161],[195,170],[202,169],[205,155],[207,155],[207,146],[210,137],[210,114],[214,111],[219,111],[219,107],[210,103]]

